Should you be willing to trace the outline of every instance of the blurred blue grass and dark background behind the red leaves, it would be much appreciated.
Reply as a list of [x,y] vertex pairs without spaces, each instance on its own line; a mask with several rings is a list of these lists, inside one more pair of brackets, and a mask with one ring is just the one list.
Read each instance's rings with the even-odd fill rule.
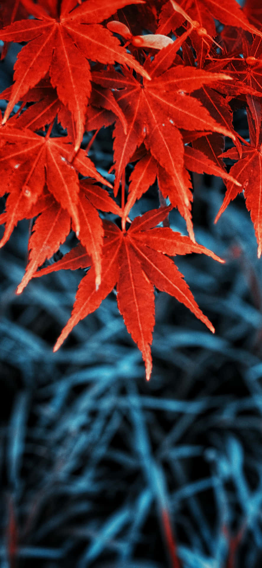
[[[247,136],[243,110],[235,126]],[[111,135],[89,154],[105,176]],[[226,264],[192,254],[177,265],[216,333],[156,291],[149,383],[114,293],[53,354],[84,271],[17,296],[28,222],[1,250],[0,568],[176,567],[170,531],[183,568],[262,565],[262,261],[243,196],[214,225],[223,183],[193,182],[196,239]],[[132,216],[157,206],[153,187]],[[170,225],[186,234],[176,211]]]

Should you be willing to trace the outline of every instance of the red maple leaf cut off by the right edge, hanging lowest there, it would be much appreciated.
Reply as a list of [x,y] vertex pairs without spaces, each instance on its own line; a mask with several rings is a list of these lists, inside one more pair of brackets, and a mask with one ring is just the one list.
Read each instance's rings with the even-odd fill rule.
[[246,146],[242,147],[241,158],[239,158],[236,148],[231,148],[222,154],[225,158],[237,160],[236,164],[231,167],[230,173],[240,183],[240,187],[236,186],[235,183],[227,182],[226,195],[215,218],[215,223],[230,201],[244,190],[247,210],[250,211],[255,228],[258,244],[257,256],[260,258],[262,252],[262,106],[258,99],[247,97],[247,100],[250,144],[246,143]]

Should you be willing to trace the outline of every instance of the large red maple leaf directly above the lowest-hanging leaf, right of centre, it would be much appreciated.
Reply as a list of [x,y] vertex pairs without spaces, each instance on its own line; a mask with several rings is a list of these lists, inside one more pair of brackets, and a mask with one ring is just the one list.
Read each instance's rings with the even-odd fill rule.
[[[179,40],[177,40],[179,41]],[[145,63],[151,81],[142,82],[131,72],[114,70],[94,72],[94,82],[114,89],[114,96],[127,119],[127,133],[117,120],[114,130],[114,158],[116,165],[115,194],[124,168],[136,147],[144,141],[145,147],[167,173],[172,176],[189,206],[188,176],[184,168],[184,143],[180,133],[186,130],[211,130],[233,136],[227,128],[211,118],[209,112],[192,96],[204,83],[226,79],[221,74],[206,73],[191,66],[170,67],[176,57],[176,41],[160,50],[151,62]],[[189,97],[188,94],[191,94]]]

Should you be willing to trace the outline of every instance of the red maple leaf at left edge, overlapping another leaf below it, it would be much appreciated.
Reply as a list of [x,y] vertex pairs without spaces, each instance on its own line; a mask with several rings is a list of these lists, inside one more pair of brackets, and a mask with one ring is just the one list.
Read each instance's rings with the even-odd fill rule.
[[[95,169],[93,162],[80,150],[69,163],[72,145],[67,137],[39,136],[31,130],[6,126],[1,130],[2,155],[2,195],[16,195],[16,207],[20,199],[26,196],[30,207],[36,203],[43,192],[45,183],[53,197],[68,210],[80,231],[77,201],[79,180],[76,169],[84,176],[94,177],[97,181],[107,182]],[[7,199],[8,202],[8,199]],[[8,207],[8,203],[7,203]],[[6,242],[6,239],[5,239]]]

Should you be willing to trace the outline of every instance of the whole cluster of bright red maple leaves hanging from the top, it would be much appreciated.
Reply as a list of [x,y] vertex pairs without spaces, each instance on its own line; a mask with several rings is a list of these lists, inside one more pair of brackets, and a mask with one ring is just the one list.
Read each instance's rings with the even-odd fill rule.
[[[192,252],[222,262],[194,238],[192,172],[220,176],[226,185],[215,222],[244,191],[261,255],[262,10],[256,0],[244,9],[236,0],[3,0],[0,26],[1,59],[10,42],[23,44],[13,85],[1,94],[0,127],[7,196],[0,246],[20,220],[31,219],[17,293],[33,277],[89,269],[56,350],[117,286],[119,311],[149,379],[154,286],[214,332],[174,264],[174,256]],[[248,140],[233,127],[239,105]],[[86,132],[94,132],[92,143],[113,124],[114,187],[83,141]],[[223,158],[235,161],[229,173]],[[132,207],[153,185],[159,209],[132,220]],[[170,228],[173,208],[188,236]],[[43,268],[70,231],[77,247]]]

